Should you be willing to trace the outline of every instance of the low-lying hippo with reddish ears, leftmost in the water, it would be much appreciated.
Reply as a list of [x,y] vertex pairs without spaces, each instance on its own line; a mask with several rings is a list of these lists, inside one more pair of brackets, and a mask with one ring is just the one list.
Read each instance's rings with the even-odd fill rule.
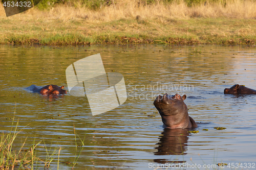
[[57,86],[57,85],[48,85],[45,87],[40,87],[32,84],[31,86],[25,88],[25,90],[38,92],[40,94],[67,94],[66,90],[63,90],[64,86]]

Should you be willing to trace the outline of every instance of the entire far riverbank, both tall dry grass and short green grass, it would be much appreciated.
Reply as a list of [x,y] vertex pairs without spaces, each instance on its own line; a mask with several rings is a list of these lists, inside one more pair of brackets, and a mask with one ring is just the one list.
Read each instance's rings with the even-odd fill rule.
[[55,5],[6,17],[0,7],[0,43],[8,44],[256,44],[256,2],[230,0],[115,5],[89,9]]

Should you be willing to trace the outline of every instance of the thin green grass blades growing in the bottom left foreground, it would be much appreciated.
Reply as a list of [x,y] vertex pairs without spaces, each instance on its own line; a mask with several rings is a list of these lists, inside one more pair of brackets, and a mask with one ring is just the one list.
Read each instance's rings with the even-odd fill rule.
[[[13,127],[14,123],[14,117],[13,117],[13,122],[11,129],[8,133],[2,133],[0,136],[0,169],[5,170],[5,169],[38,169],[38,167],[42,166],[42,163],[44,163],[45,169],[49,169],[50,164],[54,161],[56,162],[56,157],[57,157],[57,169],[59,169],[59,156],[60,156],[60,150],[61,147],[55,147],[52,148],[51,146],[49,148],[46,147],[45,144],[45,153],[46,157],[45,159],[41,159],[36,156],[35,149],[38,144],[41,143],[39,142],[33,142],[31,147],[29,149],[24,149],[24,146],[26,145],[26,139],[22,146],[17,149],[15,146],[15,139],[18,136],[20,132],[23,131],[17,131],[18,127],[18,122],[15,127]],[[75,142],[77,143],[76,136],[78,136],[75,133],[75,127],[74,127],[74,134],[75,134]],[[84,139],[83,140],[78,136],[80,141],[82,142],[82,145],[84,145]],[[42,140],[44,141],[44,140]],[[77,150],[77,145],[76,145],[76,153],[78,152],[78,155],[75,155],[73,167],[77,164],[76,162],[78,161],[78,158],[81,154],[83,147],[81,147],[80,151]],[[66,164],[70,164],[70,162],[62,162]]]

